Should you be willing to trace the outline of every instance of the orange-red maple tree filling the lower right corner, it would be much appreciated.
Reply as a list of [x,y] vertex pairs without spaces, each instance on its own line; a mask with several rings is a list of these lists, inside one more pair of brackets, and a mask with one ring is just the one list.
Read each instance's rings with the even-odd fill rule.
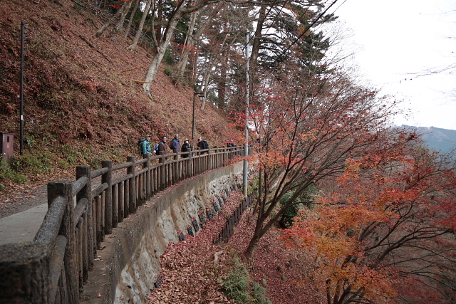
[[[452,303],[456,296],[454,162],[402,137],[348,159],[284,241],[309,253],[304,280],[327,303]],[[326,187],[324,187],[326,186]]]

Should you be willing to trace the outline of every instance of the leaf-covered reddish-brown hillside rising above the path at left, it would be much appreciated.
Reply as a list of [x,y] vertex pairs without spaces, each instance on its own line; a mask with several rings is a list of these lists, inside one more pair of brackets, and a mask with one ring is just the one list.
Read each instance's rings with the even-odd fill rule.
[[[152,141],[176,132],[191,137],[194,90],[174,85],[163,67],[152,100],[147,98],[139,81],[150,55],[140,46],[127,51],[131,40],[122,33],[110,37],[106,31],[96,38],[106,20],[100,11],[70,0],[4,0],[0,11],[0,132],[14,133],[14,169],[23,174],[0,174],[3,194],[18,183],[73,174],[76,164],[123,162],[145,133]],[[24,157],[19,157],[21,21],[27,26]],[[195,116],[195,137],[206,137],[212,146],[235,133],[210,103],[204,110],[197,105]]]

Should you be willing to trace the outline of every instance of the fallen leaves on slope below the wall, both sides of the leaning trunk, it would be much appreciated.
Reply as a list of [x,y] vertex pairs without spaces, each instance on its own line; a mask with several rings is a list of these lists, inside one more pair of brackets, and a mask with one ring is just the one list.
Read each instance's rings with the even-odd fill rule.
[[[234,303],[224,295],[218,280],[228,271],[228,251],[234,248],[243,256],[247,248],[255,223],[252,208],[244,211],[227,244],[214,245],[213,240],[227,221],[225,214],[232,214],[241,197],[241,192],[232,192],[222,213],[207,221],[199,234],[186,235],[185,241],[170,244],[160,258],[163,283],[152,291],[148,303]],[[311,282],[303,283],[313,261],[299,251],[284,248],[279,234],[274,227],[261,239],[254,266],[249,266],[250,275],[266,288],[272,303],[324,303],[323,293]]]

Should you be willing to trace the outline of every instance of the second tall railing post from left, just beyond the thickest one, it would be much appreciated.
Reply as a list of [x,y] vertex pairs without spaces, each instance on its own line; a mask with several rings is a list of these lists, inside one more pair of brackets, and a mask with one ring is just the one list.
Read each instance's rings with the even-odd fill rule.
[[93,211],[92,211],[92,183],[90,179],[90,166],[76,166],[76,180],[87,177],[86,186],[76,195],[76,200],[87,199],[87,242],[88,242],[88,268],[93,269],[93,258],[95,258],[96,243],[93,241]]

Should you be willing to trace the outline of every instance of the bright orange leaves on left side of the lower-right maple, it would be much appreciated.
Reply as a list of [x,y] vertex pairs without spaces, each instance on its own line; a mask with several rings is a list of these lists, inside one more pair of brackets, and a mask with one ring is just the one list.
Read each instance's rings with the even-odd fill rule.
[[390,273],[362,263],[365,246],[359,236],[366,225],[378,220],[383,220],[381,214],[354,204],[325,204],[314,211],[300,211],[282,239],[314,256],[318,264],[310,276],[332,295],[340,288],[361,288],[377,303],[393,303],[384,298],[394,294]]

